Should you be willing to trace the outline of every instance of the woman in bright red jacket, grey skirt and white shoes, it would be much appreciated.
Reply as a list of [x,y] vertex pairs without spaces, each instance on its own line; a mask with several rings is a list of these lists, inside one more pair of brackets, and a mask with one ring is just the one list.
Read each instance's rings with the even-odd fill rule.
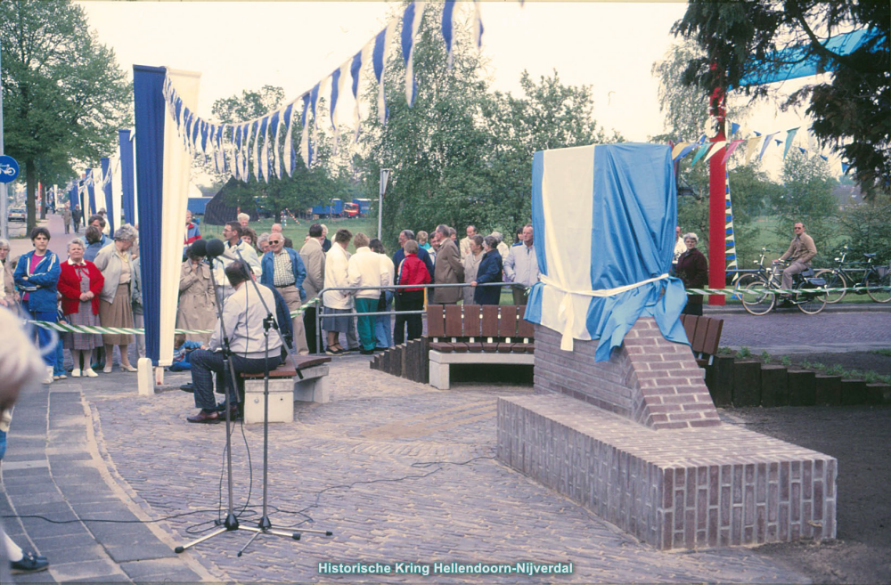
[[[92,262],[84,260],[84,244],[72,240],[68,245],[68,261],[61,263],[59,293],[61,310],[71,325],[99,326],[99,293],[105,279]],[[71,378],[80,378],[80,359],[83,355],[84,376],[96,378],[93,371],[93,350],[102,347],[102,336],[93,333],[66,333],[64,345],[71,350],[74,370]]]

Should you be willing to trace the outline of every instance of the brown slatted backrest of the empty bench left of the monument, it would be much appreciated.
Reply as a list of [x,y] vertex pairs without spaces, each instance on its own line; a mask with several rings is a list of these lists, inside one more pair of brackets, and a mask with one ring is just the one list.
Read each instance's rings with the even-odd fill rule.
[[535,337],[526,305],[427,305],[427,337]]

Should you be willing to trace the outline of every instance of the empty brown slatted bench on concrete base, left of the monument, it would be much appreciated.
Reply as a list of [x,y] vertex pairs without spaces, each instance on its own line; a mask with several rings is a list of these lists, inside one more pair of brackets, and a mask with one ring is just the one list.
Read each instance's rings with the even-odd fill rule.
[[430,386],[447,390],[452,364],[535,364],[525,305],[427,305]]

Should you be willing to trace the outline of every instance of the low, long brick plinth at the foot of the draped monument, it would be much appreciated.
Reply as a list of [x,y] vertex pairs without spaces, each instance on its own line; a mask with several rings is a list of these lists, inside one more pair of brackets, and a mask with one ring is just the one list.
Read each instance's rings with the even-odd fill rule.
[[568,396],[499,398],[498,459],[660,549],[836,535],[836,459],[733,425],[656,430]]

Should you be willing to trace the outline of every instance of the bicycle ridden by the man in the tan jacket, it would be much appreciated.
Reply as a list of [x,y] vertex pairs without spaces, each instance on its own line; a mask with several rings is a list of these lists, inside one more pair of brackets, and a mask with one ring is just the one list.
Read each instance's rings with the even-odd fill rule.
[[[766,250],[765,250],[766,251]],[[764,262],[764,254],[762,254]],[[782,267],[789,262],[778,260],[770,270],[761,266],[761,271],[754,282],[749,282],[743,289],[742,306],[749,314],[765,315],[777,307],[777,293],[781,290]],[[762,275],[761,272],[764,272]],[[816,278],[813,270],[808,268],[805,272],[792,276],[792,290],[795,291],[788,299],[791,305],[808,315],[820,313],[826,307],[826,293],[823,288],[826,281]]]

